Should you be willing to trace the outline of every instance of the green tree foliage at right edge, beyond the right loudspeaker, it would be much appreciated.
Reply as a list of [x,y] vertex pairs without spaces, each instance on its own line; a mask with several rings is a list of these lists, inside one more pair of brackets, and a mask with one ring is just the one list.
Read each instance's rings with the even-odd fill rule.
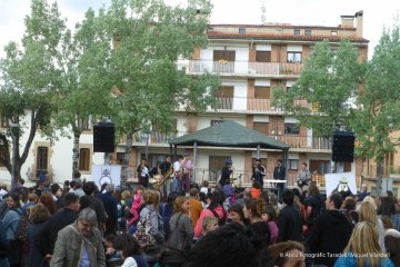
[[368,66],[366,88],[359,98],[361,109],[353,120],[360,140],[358,154],[374,157],[378,165],[400,144],[391,135],[400,130],[399,32],[399,24],[383,31]]

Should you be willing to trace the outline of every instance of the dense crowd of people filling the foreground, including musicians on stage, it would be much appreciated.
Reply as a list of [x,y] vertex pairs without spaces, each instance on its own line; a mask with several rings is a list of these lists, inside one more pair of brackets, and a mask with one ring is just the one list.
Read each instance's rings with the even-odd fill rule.
[[[184,179],[168,162],[158,168]],[[139,176],[150,171],[138,167]],[[400,266],[400,206],[390,191],[323,197],[312,181],[269,190],[259,179],[240,194],[227,179],[168,191],[143,179],[132,188],[20,180],[0,188],[0,266]]]

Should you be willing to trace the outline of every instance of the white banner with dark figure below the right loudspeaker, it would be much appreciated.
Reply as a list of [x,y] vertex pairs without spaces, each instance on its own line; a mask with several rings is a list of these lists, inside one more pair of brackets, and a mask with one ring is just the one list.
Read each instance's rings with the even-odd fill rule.
[[[357,194],[356,176],[351,172],[326,174],[327,196],[333,191]],[[348,195],[348,194],[347,194]]]

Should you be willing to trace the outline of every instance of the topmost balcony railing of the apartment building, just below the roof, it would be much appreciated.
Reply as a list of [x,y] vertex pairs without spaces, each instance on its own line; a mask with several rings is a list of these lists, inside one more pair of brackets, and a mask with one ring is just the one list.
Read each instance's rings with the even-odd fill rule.
[[302,63],[190,60],[179,62],[179,68],[186,68],[189,73],[212,72],[220,75],[297,77],[302,71]]

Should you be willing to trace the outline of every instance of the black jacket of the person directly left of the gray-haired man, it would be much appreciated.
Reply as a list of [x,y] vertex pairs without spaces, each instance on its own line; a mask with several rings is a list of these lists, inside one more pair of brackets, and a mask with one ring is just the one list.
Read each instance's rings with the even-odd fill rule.
[[34,236],[34,245],[44,257],[54,250],[58,231],[72,224],[78,218],[78,212],[63,208],[52,215],[42,229]]

